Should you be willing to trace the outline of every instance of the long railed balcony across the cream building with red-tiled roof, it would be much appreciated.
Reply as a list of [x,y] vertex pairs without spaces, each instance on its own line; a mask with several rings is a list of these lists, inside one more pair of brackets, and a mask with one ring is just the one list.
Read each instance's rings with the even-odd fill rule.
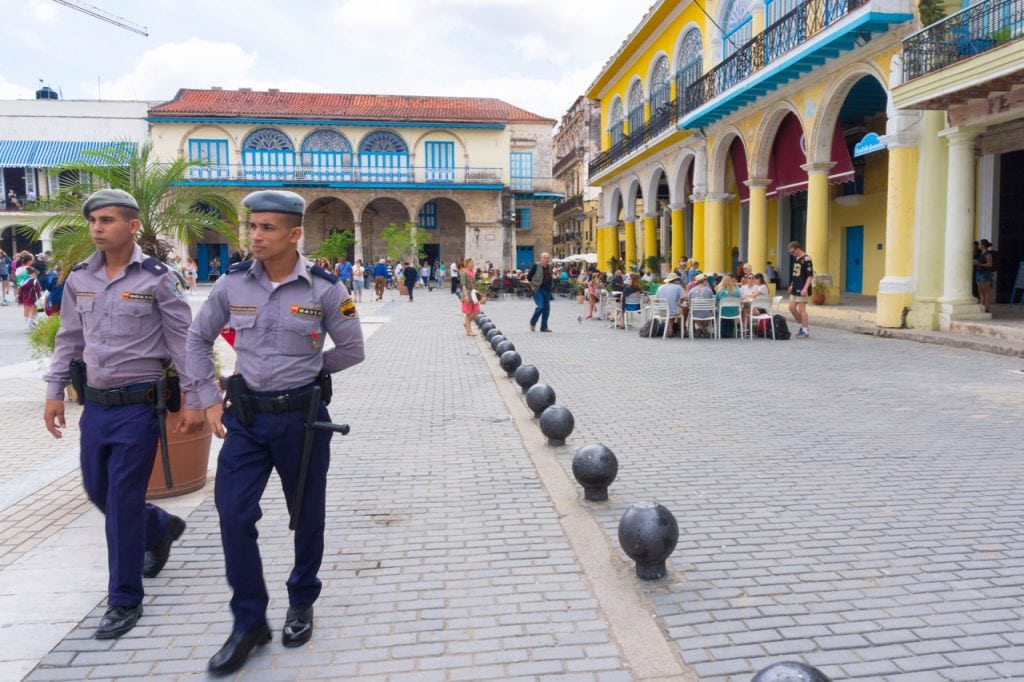
[[501,168],[434,168],[407,166],[395,168],[358,166],[305,167],[203,165],[190,168],[184,180],[188,184],[228,185],[329,185],[329,186],[453,186],[501,189],[505,171]]

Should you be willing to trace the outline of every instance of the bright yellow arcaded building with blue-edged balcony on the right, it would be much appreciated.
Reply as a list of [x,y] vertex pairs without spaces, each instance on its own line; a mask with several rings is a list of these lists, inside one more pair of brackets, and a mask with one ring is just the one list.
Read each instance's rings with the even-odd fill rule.
[[[942,79],[894,94],[916,78],[903,54],[915,16],[909,0],[655,3],[587,92],[601,108],[590,177],[601,188],[602,269],[683,256],[717,272],[771,262],[784,287],[786,245],[798,241],[827,300],[877,296],[881,326],[984,317],[970,297],[972,142],[944,115],[911,111],[970,95],[943,99]],[[1010,33],[992,49],[1021,47],[1017,22],[1007,14]],[[1020,65],[1019,51],[1004,60]],[[957,145],[953,176],[943,155]]]

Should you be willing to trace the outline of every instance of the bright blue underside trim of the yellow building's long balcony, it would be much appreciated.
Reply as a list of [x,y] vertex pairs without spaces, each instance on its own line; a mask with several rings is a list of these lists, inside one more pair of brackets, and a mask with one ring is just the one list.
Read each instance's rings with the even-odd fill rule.
[[853,49],[853,40],[858,32],[867,30],[872,33],[882,33],[893,24],[902,24],[911,18],[913,18],[911,14],[904,13],[865,12],[849,24],[842,26],[837,24],[840,29],[825,37],[824,40],[813,44],[805,43],[796,48],[767,69],[758,72],[754,77],[737,84],[728,93],[719,95],[716,101],[709,102],[683,117],[676,127],[679,130],[688,130],[709,126],[720,121],[758,97],[813,71],[816,56],[820,57],[822,53],[828,54],[837,49],[840,52]]

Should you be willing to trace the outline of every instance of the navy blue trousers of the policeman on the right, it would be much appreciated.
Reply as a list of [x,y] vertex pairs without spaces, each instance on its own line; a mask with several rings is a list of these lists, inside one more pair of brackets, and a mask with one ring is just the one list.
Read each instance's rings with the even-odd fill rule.
[[[319,421],[330,421],[327,408],[319,407]],[[263,582],[259,531],[263,516],[260,498],[266,489],[271,469],[278,470],[288,508],[292,507],[299,477],[299,461],[305,438],[305,411],[281,414],[259,413],[255,424],[246,427],[234,414],[223,417],[227,438],[217,460],[214,499],[220,515],[220,541],[224,547],[227,583],[231,586],[234,630],[249,632],[265,626],[269,601]],[[312,606],[319,596],[316,578],[324,558],[327,472],[331,463],[331,433],[317,431],[309,458],[299,527],[295,530],[295,565],[288,578],[289,605]]]

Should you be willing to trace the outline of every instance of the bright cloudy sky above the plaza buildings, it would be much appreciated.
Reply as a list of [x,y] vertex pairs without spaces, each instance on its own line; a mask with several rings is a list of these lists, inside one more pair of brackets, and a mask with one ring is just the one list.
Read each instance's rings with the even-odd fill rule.
[[[559,118],[653,0],[0,0],[0,98],[179,87],[500,97]],[[98,92],[98,95],[97,95]]]

